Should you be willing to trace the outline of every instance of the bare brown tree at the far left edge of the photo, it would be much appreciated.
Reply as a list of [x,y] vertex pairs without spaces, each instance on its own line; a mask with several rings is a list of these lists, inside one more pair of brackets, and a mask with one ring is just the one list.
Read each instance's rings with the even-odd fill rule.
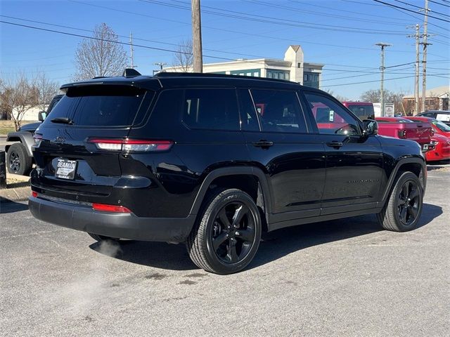
[[28,79],[23,72],[15,79],[1,81],[1,106],[14,121],[15,130],[22,125],[22,119],[30,107],[38,103],[39,91],[34,81]]

